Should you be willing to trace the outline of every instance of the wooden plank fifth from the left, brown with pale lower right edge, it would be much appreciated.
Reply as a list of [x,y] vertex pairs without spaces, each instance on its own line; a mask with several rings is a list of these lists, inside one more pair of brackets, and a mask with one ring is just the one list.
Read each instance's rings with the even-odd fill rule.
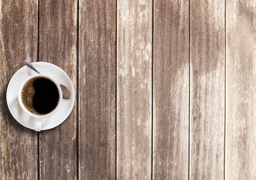
[[153,179],[189,176],[189,1],[154,1]]

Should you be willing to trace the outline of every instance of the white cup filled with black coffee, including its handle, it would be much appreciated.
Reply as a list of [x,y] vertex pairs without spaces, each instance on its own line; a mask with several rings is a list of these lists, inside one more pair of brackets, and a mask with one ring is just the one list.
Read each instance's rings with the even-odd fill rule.
[[42,119],[54,114],[61,105],[61,87],[47,75],[31,75],[21,83],[18,100],[21,108],[35,118],[35,131],[40,131]]

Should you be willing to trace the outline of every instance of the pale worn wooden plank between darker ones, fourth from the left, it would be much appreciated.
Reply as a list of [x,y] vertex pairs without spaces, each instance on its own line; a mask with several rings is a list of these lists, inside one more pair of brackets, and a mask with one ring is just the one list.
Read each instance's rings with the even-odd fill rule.
[[117,177],[150,179],[152,2],[117,4]]

